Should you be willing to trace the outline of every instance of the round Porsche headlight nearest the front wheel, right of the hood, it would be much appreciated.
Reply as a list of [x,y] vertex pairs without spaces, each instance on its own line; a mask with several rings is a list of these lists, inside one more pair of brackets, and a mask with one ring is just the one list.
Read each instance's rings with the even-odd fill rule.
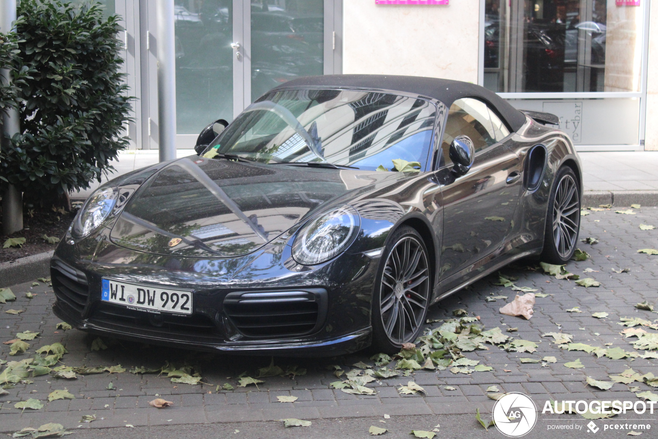
[[310,220],[293,242],[293,258],[304,265],[328,261],[349,247],[357,236],[360,222],[359,213],[347,205]]

